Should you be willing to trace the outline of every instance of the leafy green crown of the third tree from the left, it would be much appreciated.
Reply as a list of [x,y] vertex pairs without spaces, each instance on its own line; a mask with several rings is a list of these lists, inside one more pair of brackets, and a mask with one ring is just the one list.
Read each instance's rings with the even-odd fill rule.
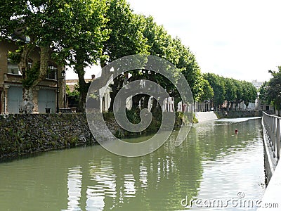
[[107,1],[105,29],[109,38],[103,41],[102,67],[107,63],[136,53],[148,53],[146,39],[143,36],[143,19],[134,14],[126,0]]

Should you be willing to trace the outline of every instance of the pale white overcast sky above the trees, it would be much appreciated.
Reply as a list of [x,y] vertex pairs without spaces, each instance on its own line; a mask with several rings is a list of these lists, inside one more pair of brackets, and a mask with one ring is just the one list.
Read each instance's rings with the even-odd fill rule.
[[127,1],[190,47],[202,72],[263,82],[281,65],[280,0]]

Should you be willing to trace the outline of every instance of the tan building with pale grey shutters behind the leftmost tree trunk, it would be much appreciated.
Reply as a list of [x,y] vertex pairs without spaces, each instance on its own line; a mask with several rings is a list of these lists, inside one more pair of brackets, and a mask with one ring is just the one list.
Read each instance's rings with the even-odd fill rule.
[[[0,113],[20,113],[22,106],[22,74],[18,64],[8,58],[8,51],[15,51],[18,46],[12,40],[0,41]],[[30,53],[29,65],[39,61],[39,49]],[[46,79],[33,90],[33,113],[55,113],[65,106],[65,77],[63,67],[52,60],[48,62],[49,71]]]

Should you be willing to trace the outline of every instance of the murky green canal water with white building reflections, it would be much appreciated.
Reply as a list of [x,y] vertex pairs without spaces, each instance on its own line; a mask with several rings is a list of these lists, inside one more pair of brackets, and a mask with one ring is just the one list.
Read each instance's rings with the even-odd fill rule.
[[179,147],[175,136],[140,158],[96,145],[1,162],[0,210],[256,210],[240,203],[265,189],[260,118],[195,124]]

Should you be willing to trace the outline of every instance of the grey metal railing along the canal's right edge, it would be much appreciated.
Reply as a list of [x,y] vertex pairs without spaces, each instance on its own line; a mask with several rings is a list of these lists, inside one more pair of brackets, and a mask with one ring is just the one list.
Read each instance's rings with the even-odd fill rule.
[[277,162],[280,158],[280,122],[281,117],[263,112],[263,125],[273,152],[273,158],[276,158]]

